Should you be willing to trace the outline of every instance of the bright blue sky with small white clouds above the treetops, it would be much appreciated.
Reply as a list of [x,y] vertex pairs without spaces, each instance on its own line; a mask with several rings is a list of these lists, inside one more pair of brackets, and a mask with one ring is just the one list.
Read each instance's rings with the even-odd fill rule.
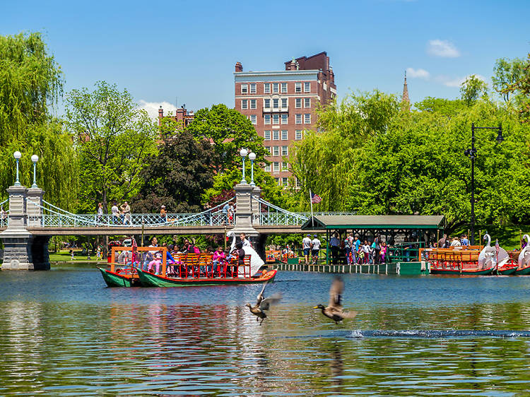
[[[411,102],[459,96],[495,60],[530,52],[530,1],[11,1],[0,35],[42,32],[64,71],[65,92],[96,81],[129,90],[155,115],[225,103],[233,71],[283,70],[326,51],[339,100],[375,88]],[[64,107],[59,105],[60,115]]]

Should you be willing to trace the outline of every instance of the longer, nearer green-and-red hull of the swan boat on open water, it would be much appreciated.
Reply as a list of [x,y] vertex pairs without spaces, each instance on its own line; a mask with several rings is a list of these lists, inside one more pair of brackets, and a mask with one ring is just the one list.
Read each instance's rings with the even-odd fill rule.
[[191,287],[198,285],[236,285],[259,284],[273,281],[277,270],[269,271],[258,278],[167,278],[139,270],[138,275],[143,287]]

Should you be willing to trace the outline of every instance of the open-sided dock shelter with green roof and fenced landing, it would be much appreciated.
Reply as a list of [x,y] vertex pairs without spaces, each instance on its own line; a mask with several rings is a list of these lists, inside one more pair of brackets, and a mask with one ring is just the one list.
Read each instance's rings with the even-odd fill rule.
[[[444,216],[443,215],[317,215],[305,222],[302,231],[308,233],[325,232],[326,242],[329,242],[331,236],[337,233],[338,238],[343,240],[349,233],[358,235],[361,240],[367,239],[372,242],[375,236],[380,235],[382,241],[396,244],[396,237],[406,235],[411,237],[413,242],[409,248],[411,262],[404,261],[403,256],[396,255],[391,261],[382,264],[331,264],[329,244],[326,248],[325,265],[305,266],[298,263],[292,263],[293,268],[285,270],[312,270],[312,271],[330,271],[340,273],[398,273],[398,274],[419,274],[423,265],[418,261],[418,249],[428,246],[428,243],[439,238],[443,234]],[[405,243],[406,244],[406,243]],[[414,254],[413,254],[414,253]],[[300,267],[302,266],[302,267]],[[307,269],[306,269],[307,267]]]

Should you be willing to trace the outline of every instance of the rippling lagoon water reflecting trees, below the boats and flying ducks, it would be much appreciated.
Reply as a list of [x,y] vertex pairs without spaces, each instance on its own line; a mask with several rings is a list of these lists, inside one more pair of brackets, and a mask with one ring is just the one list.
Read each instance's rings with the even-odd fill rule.
[[261,286],[107,288],[91,266],[0,273],[0,395],[522,396],[530,277],[343,275],[336,325],[315,304],[334,275]]

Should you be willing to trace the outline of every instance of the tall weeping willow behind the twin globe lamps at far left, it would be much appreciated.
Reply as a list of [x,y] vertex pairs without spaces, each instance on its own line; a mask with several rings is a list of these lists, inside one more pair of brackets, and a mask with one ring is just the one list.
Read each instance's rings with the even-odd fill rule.
[[33,182],[30,157],[39,155],[39,186],[68,208],[76,195],[71,138],[49,112],[62,95],[63,73],[38,32],[0,36],[0,197],[13,184],[20,150],[21,182]]

